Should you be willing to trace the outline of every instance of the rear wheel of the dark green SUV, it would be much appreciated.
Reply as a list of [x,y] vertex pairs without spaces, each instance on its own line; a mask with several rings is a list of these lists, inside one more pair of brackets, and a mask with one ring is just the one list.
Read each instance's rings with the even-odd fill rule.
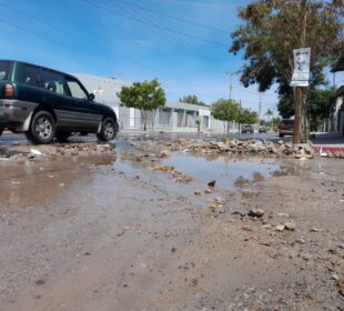
[[48,111],[38,111],[26,134],[29,140],[36,143],[49,143],[55,134],[55,121]]

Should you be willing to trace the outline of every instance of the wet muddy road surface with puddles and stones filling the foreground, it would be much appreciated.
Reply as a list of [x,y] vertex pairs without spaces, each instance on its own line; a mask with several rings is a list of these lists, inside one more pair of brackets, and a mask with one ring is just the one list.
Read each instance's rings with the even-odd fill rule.
[[145,142],[0,161],[1,310],[343,310],[342,161]]

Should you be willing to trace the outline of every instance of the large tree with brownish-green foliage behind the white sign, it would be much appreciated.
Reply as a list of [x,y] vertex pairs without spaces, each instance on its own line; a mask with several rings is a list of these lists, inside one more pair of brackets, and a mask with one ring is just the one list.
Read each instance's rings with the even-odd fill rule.
[[[302,12],[305,31],[301,29]],[[311,89],[324,84],[323,69],[344,50],[343,0],[254,0],[239,10],[239,17],[243,23],[232,33],[230,52],[244,52],[241,82],[245,87],[256,83],[262,92],[277,83],[280,112],[291,114],[293,50],[302,48],[303,41],[311,48]],[[286,100],[290,97],[292,101]],[[305,96],[303,99],[305,102]],[[306,112],[302,109],[303,141],[307,139]]]

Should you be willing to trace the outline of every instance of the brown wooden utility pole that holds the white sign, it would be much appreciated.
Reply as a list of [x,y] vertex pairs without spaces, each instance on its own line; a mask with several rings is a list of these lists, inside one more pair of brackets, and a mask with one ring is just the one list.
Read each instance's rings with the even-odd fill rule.
[[[301,26],[300,26],[300,48],[305,47],[306,41],[306,0],[301,1]],[[295,121],[294,121],[294,134],[293,143],[299,144],[301,142],[301,108],[303,106],[303,90],[301,87],[295,87]]]

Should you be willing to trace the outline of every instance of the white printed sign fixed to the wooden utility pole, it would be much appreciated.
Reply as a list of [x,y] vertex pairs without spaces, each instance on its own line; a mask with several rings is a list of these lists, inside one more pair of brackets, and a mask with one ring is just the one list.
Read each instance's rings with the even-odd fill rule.
[[311,48],[294,50],[294,71],[291,87],[310,86]]

